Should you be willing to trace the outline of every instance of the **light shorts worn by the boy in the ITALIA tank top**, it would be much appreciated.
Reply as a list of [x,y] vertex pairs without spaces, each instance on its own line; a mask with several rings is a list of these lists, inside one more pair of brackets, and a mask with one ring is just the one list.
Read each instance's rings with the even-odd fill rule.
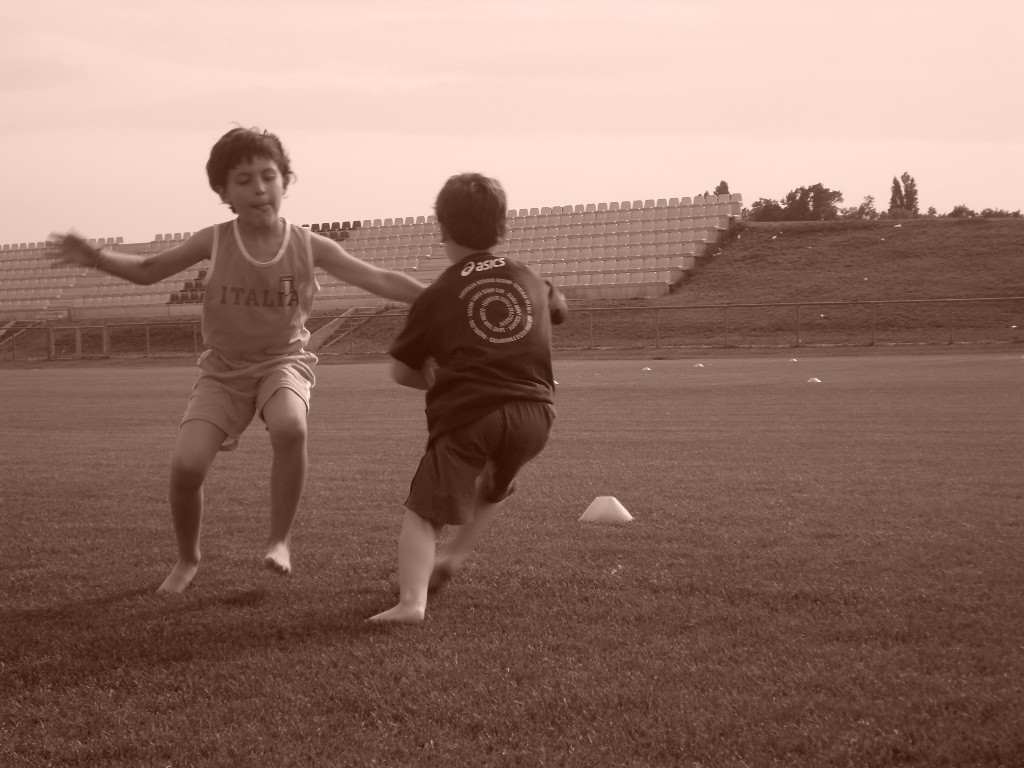
[[282,358],[231,370],[223,360],[204,355],[181,424],[198,419],[218,427],[227,435],[221,451],[238,447],[253,417],[263,418],[263,408],[279,389],[295,392],[309,412],[309,393],[316,380],[303,360]]

